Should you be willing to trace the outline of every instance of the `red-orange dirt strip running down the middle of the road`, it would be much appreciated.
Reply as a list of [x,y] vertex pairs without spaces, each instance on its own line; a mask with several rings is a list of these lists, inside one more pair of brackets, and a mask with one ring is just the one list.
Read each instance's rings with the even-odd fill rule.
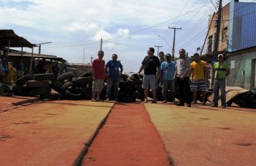
[[116,103],[82,165],[170,165],[144,104]]

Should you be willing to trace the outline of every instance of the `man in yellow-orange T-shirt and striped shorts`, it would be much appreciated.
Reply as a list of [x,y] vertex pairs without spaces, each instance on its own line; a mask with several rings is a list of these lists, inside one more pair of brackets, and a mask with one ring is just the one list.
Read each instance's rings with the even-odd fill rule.
[[198,53],[194,53],[194,62],[190,64],[190,67],[190,91],[193,93],[192,104],[196,104],[196,91],[199,87],[202,92],[202,104],[205,105],[206,80],[208,79],[206,62],[200,59]]

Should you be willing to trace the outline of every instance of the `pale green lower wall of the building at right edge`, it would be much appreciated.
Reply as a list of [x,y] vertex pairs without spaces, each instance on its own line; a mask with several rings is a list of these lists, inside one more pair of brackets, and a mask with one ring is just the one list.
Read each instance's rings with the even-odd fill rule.
[[230,64],[230,76],[227,77],[227,86],[252,89],[255,86],[255,61],[256,51],[228,56],[226,62]]

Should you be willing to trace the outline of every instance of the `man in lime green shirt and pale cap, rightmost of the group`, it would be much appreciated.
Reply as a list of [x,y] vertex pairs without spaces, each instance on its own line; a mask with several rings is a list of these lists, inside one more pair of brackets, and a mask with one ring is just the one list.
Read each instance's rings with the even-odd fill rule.
[[213,93],[214,98],[211,107],[218,107],[219,90],[221,91],[221,108],[226,108],[226,77],[230,75],[230,66],[223,62],[224,56],[218,55],[218,62],[213,65],[214,68],[214,82]]

